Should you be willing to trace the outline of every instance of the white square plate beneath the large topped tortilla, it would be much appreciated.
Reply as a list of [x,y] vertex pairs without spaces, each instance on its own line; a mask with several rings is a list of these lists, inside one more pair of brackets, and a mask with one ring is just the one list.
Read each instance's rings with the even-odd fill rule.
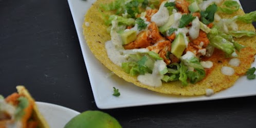
[[[99,108],[107,109],[177,102],[215,100],[256,95],[255,80],[247,80],[245,76],[237,80],[235,85],[232,87],[216,93],[210,97],[163,95],[152,92],[148,89],[137,87],[134,84],[128,83],[115,75],[107,77],[111,71],[108,70],[94,57],[92,52],[90,52],[90,49],[88,48],[83,36],[82,24],[84,22],[84,15],[94,2],[95,0],[68,0],[71,14],[73,16],[78,33],[90,85],[93,89],[96,105]],[[256,67],[255,62],[252,64],[252,67]],[[121,93],[119,97],[114,97],[112,95],[113,87],[119,89],[119,92]]]

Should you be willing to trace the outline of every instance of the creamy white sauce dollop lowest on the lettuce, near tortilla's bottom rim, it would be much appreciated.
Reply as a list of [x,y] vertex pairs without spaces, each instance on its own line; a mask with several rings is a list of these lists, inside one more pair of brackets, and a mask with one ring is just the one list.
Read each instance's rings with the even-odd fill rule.
[[137,79],[139,82],[153,86],[153,87],[158,87],[162,85],[162,77],[163,75],[160,75],[160,71],[166,68],[166,63],[163,60],[157,60],[154,64],[154,68],[152,71],[152,74],[145,74],[145,75],[139,75]]

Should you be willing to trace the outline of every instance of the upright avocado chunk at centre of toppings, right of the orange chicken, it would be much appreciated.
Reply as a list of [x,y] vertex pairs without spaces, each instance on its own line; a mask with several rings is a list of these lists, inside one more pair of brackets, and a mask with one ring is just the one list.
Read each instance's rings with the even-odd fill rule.
[[184,34],[178,33],[175,40],[172,42],[171,52],[174,54],[174,56],[180,58],[186,47],[187,45],[185,43]]

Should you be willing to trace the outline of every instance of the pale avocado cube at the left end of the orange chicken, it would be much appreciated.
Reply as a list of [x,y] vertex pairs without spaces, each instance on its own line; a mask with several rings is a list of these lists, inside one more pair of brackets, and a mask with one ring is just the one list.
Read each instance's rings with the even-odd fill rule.
[[125,45],[136,40],[137,31],[136,30],[121,31],[119,32],[119,35],[121,36],[123,45]]

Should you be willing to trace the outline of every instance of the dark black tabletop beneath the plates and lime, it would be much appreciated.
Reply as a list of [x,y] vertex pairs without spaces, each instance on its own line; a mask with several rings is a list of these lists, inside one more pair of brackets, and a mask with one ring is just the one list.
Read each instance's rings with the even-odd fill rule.
[[[241,4],[250,12],[256,1]],[[36,101],[98,109],[67,1],[0,0],[0,94],[16,85]],[[255,96],[101,111],[123,127],[256,127]]]

